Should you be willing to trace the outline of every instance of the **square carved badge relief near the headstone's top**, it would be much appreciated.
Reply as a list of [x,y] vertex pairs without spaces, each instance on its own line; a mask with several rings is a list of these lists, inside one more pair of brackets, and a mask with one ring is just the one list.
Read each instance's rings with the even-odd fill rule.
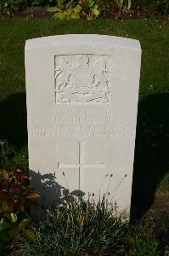
[[55,102],[108,103],[110,56],[55,56]]

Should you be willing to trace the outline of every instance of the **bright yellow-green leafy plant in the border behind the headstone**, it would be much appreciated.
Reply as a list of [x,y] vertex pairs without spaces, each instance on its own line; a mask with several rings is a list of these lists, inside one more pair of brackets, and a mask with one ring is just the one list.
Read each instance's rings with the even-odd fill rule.
[[80,0],[78,3],[75,0],[59,0],[55,7],[49,7],[47,10],[54,12],[54,18],[59,20],[94,20],[100,15],[99,5],[93,0]]

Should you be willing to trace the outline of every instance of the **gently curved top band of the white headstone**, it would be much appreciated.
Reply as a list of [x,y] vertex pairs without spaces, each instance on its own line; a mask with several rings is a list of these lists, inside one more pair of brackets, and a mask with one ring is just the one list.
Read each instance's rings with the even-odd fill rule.
[[63,44],[109,44],[141,51],[138,40],[98,34],[70,34],[33,38],[25,42],[25,49],[56,46]]

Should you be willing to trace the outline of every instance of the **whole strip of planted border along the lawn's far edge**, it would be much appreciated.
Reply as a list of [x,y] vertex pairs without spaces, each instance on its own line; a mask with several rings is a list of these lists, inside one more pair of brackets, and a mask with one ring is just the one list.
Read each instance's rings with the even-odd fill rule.
[[[61,3],[61,5],[60,5]],[[168,0],[1,0],[0,15],[14,15],[23,9],[31,6],[51,6],[56,5],[55,18],[60,20],[93,20],[99,16],[121,15],[130,11],[148,11],[154,14],[169,14]],[[76,5],[81,6],[81,11],[77,12]],[[79,7],[78,7],[79,9]],[[48,9],[52,12],[52,9]]]

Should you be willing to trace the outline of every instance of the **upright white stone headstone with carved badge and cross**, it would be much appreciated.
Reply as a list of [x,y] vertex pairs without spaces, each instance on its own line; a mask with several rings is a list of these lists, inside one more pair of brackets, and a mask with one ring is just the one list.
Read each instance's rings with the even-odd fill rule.
[[140,62],[128,38],[26,41],[29,167],[43,204],[69,189],[130,211]]

